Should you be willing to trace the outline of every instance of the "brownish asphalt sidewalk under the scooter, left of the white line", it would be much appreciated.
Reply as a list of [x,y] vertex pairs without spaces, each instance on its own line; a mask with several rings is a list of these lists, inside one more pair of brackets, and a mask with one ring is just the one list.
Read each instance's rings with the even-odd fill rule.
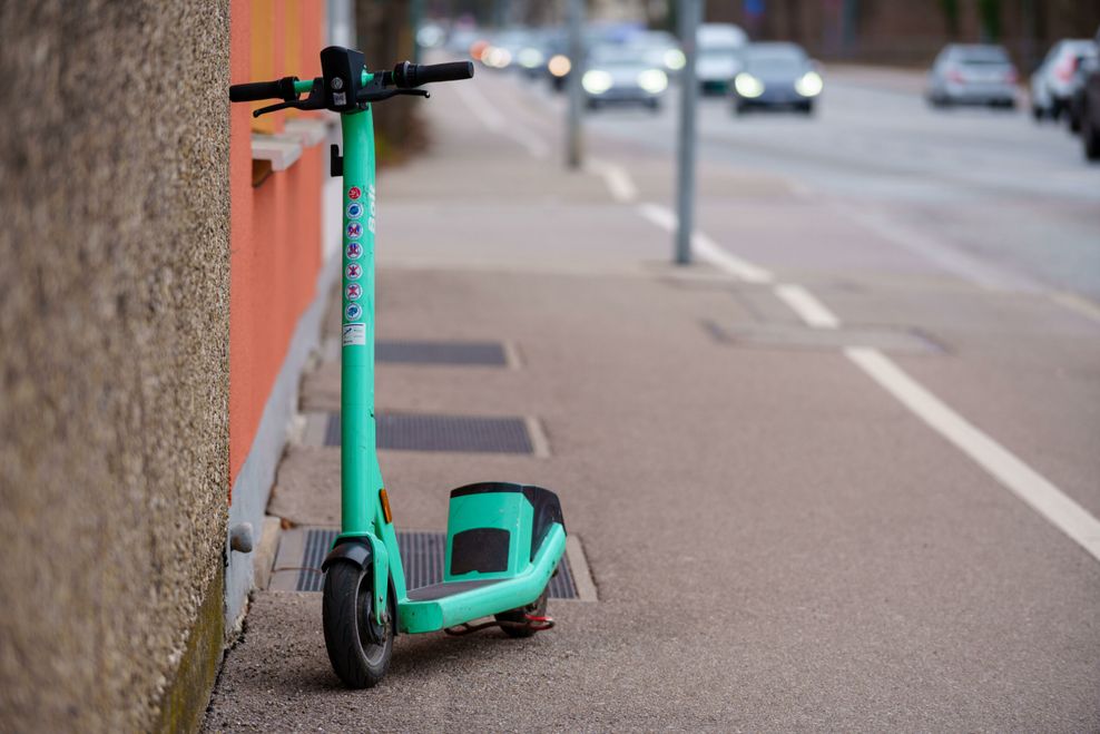
[[[258,591],[206,730],[1100,724],[1094,562],[838,350],[731,343],[801,322],[770,288],[669,266],[666,232],[598,172],[562,169],[543,108],[499,80],[480,89],[497,117],[454,86],[433,92],[433,149],[380,180],[379,337],[492,342],[508,359],[382,364],[379,412],[518,417],[544,446],[384,450],[382,469],[411,530],[442,531],[446,492],[470,481],[556,490],[598,598],[553,600],[559,626],[529,640],[403,636],[383,685],[350,692],[320,594]],[[647,196],[670,190],[667,162],[601,151]],[[824,221],[797,226],[813,203],[794,182],[706,162],[700,176],[782,213],[793,239]],[[704,219],[719,206],[704,202]],[[269,508],[287,528],[337,519],[338,449],[316,428],[338,405],[335,351],[303,382],[304,430]]]

